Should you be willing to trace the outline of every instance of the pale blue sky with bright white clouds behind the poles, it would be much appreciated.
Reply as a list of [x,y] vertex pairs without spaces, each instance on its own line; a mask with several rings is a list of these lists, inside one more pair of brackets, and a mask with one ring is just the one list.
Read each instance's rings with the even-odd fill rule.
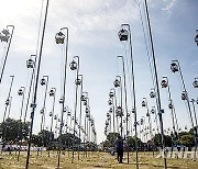
[[[143,13],[143,2],[141,0],[136,1],[140,3]],[[21,98],[18,95],[18,90],[21,86],[28,88],[30,83],[31,70],[26,69],[25,61],[30,58],[30,55],[36,54],[42,2],[45,7],[46,0],[0,0],[0,30],[10,24],[15,26],[3,79],[0,84],[1,116],[3,116],[4,101],[8,95],[10,75],[14,75],[10,116],[14,119],[20,116]],[[41,78],[43,75],[48,75],[48,89],[57,88],[55,112],[59,115],[58,99],[61,98],[61,83],[63,81],[64,56],[63,46],[55,44],[55,34],[59,32],[59,29],[68,27],[68,61],[72,61],[73,56],[80,57],[79,72],[84,75],[84,89],[89,93],[90,110],[96,122],[98,143],[106,139],[103,128],[106,113],[109,110],[109,91],[113,87],[116,76],[121,75],[122,70],[121,60],[117,59],[117,56],[125,56],[127,54],[124,45],[118,37],[122,23],[128,23],[131,26],[138,119],[145,116],[146,113],[146,110],[141,108],[142,98],[147,98],[150,109],[155,105],[154,101],[150,99],[150,91],[153,88],[152,76],[138,3],[133,0],[50,0]],[[168,77],[179,126],[184,129],[187,125],[189,128],[190,123],[186,104],[180,100],[183,91],[180,79],[178,75],[170,71],[169,65],[173,59],[179,60],[189,98],[196,99],[198,91],[193,88],[193,81],[195,77],[198,77],[198,46],[194,42],[196,29],[198,29],[198,1],[148,0],[147,3],[158,79],[161,80],[163,76]],[[143,22],[145,24],[144,15]],[[1,65],[4,46],[6,44],[0,43]],[[125,63],[129,64],[129,60],[125,59]],[[75,72],[69,69],[67,72],[66,105],[74,113]],[[131,83],[129,80],[127,86],[128,105],[129,110],[131,110],[132,97],[130,95]],[[44,98],[44,88],[42,86],[38,86],[37,93],[34,133],[40,131],[40,110]],[[161,98],[162,108],[165,110],[163,115],[164,126],[167,128],[172,126],[172,119],[167,109],[168,98],[165,89],[161,89]],[[47,97],[46,125],[48,126],[48,112],[51,109],[52,98]],[[30,117],[30,110],[28,117]]]

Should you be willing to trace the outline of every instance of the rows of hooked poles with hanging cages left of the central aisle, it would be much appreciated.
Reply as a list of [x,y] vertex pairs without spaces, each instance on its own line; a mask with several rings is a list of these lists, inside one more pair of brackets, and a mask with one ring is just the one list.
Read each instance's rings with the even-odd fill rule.
[[[28,144],[28,155],[26,155],[26,166],[25,168],[29,168],[30,164],[30,153],[31,153],[31,144],[32,144],[32,134],[33,134],[33,123],[34,123],[34,114],[35,114],[35,109],[36,109],[36,101],[37,101],[37,89],[38,89],[38,83],[41,83],[43,87],[45,87],[45,94],[44,94],[44,100],[43,100],[43,108],[41,110],[41,131],[45,129],[45,115],[46,115],[46,97],[47,97],[47,89],[48,89],[48,76],[43,76],[43,78],[40,80],[40,69],[42,65],[42,53],[43,53],[43,44],[44,44],[44,37],[45,37],[45,27],[46,27],[46,20],[47,20],[47,12],[48,12],[48,0],[46,1],[46,8],[45,8],[45,14],[44,14],[44,23],[43,23],[43,29],[42,29],[42,35],[41,35],[41,46],[40,46],[40,53],[38,55],[31,55],[31,58],[26,61],[26,67],[32,68],[32,77],[31,77],[31,82],[30,82],[30,89],[28,93],[28,101],[26,101],[26,109],[25,109],[25,114],[24,114],[24,122],[26,122],[26,111],[29,105],[31,106],[31,122],[30,122],[30,134],[29,134],[29,144]],[[9,33],[9,27],[12,27],[11,34]],[[6,68],[6,63],[10,49],[10,44],[12,40],[12,34],[13,34],[14,26],[9,25],[7,30],[3,30],[0,34],[0,40],[1,42],[8,43],[7,52],[6,52],[6,57],[1,70],[1,77],[0,77],[0,83],[2,80],[3,71]],[[64,31],[66,32],[66,35],[64,34]],[[68,106],[66,106],[66,84],[67,84],[67,66],[68,66],[68,56],[67,56],[67,50],[68,50],[68,29],[63,27],[61,31],[56,34],[55,36],[56,44],[64,45],[64,54],[65,54],[65,61],[64,61],[64,80],[63,80],[63,89],[62,89],[62,98],[59,99],[59,103],[62,106],[62,113],[61,116],[58,117],[57,114],[54,114],[54,105],[55,105],[55,93],[56,93],[56,88],[52,88],[50,90],[50,97],[53,97],[53,109],[52,112],[50,113],[51,116],[51,134],[53,133],[53,121],[56,120],[56,125],[55,125],[55,132],[57,133],[58,129],[58,154],[57,154],[57,168],[59,168],[61,165],[61,154],[62,154],[62,135],[64,134],[64,127],[66,127],[65,133],[68,132],[69,129],[69,123],[68,123],[68,117],[70,117],[70,133],[73,134],[74,138],[75,136],[78,137],[79,139],[82,138],[82,142],[85,146],[91,145],[91,142],[96,144],[97,142],[97,133],[95,128],[95,119],[90,114],[90,105],[89,105],[89,98],[88,98],[88,92],[84,91],[82,88],[82,75],[79,74],[79,56],[74,56],[73,61],[69,64],[69,67],[72,70],[76,71],[76,80],[75,80],[75,108],[74,108],[74,115],[72,115],[70,110]],[[34,57],[34,58],[33,58]],[[7,116],[7,110],[9,106],[11,106],[11,89],[12,89],[12,83],[13,83],[14,76],[11,76],[11,84],[10,84],[10,90],[8,94],[8,99],[6,101],[6,111],[3,115],[3,122],[6,121]],[[80,89],[79,89],[80,88]],[[22,121],[22,110],[24,106],[24,93],[25,93],[25,88],[21,87],[19,90],[19,95],[22,95],[22,105],[21,105],[21,112],[20,112],[20,123]],[[31,100],[31,94],[32,94],[32,103],[30,103]],[[79,97],[80,95],[80,97]],[[78,98],[79,97],[79,98]],[[80,102],[78,102],[80,100]],[[82,126],[82,105],[85,105],[85,122]],[[80,110],[78,110],[78,106]],[[9,109],[10,110],[10,109]],[[79,112],[79,113],[78,113]],[[10,113],[8,113],[9,115]],[[65,115],[66,114],[66,120]],[[9,116],[8,116],[9,117]],[[77,120],[79,117],[79,120]],[[64,123],[64,121],[66,121]],[[73,126],[72,126],[72,121]],[[79,122],[78,122],[79,121]],[[59,127],[58,127],[58,122],[59,122]],[[73,128],[72,128],[73,127]],[[22,127],[20,125],[19,127],[19,134],[22,133]],[[82,134],[84,136],[82,136]],[[2,139],[4,139],[6,136],[3,136]],[[20,138],[20,137],[19,137]],[[21,140],[22,142],[22,140]],[[52,142],[52,135],[50,136],[50,142]],[[20,145],[21,147],[21,145]],[[21,149],[21,148],[20,148]],[[19,156],[20,156],[20,149],[19,149]],[[80,143],[78,145],[78,159],[79,159],[79,149],[80,149]],[[72,150],[73,150],[73,158],[72,162],[74,162],[74,157],[75,157],[75,143],[72,143]],[[19,160],[18,156],[18,160]]]

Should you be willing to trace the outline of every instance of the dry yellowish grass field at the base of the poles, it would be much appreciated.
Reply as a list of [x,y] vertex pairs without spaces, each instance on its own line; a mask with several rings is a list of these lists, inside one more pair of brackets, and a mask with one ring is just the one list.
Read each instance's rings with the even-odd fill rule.
[[[0,169],[22,169],[25,168],[26,153],[21,153],[20,161],[16,159],[15,153],[9,155],[3,153],[0,156]],[[65,153],[61,157],[62,169],[132,169],[135,168],[135,155],[130,154],[130,164],[127,164],[127,154],[124,154],[123,164],[118,164],[117,156],[111,156],[108,153],[88,153],[85,157],[84,153],[80,153],[80,159],[78,160],[77,153],[75,154],[74,164],[72,162],[72,153]],[[153,158],[152,153],[140,154],[140,169],[162,169],[164,166],[164,159]],[[167,159],[169,169],[198,169],[198,160],[191,159]],[[51,153],[51,157],[47,153],[43,151],[37,156],[37,153],[31,153],[30,169],[54,169],[57,167],[57,154]]]

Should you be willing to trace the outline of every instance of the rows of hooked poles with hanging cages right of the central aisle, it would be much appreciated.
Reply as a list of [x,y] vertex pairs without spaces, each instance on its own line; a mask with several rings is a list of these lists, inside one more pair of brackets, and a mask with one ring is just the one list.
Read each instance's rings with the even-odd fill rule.
[[[152,88],[152,91],[150,93],[151,98],[155,98],[156,100],[156,108],[157,108],[157,113],[156,113],[156,109],[153,106],[152,110],[148,110],[147,106],[147,100],[146,98],[143,98],[142,101],[142,106],[146,108],[146,116],[147,116],[147,121],[148,121],[148,133],[150,133],[150,137],[151,139],[153,138],[153,129],[152,129],[152,121],[151,121],[151,114],[155,115],[155,122],[156,122],[156,126],[157,126],[157,132],[161,132],[161,138],[162,138],[162,148],[163,148],[163,154],[164,154],[164,168],[167,168],[167,162],[166,162],[166,156],[165,156],[165,140],[164,140],[164,124],[163,124],[163,113],[164,113],[164,109],[162,109],[162,104],[161,104],[161,93],[160,93],[160,83],[158,83],[158,76],[157,76],[157,68],[156,68],[156,60],[155,60],[155,52],[154,52],[154,43],[153,43],[153,36],[152,36],[152,30],[151,30],[151,23],[150,23],[150,15],[148,15],[148,8],[147,8],[147,1],[144,0],[144,7],[145,7],[145,15],[146,15],[146,21],[147,21],[147,32],[148,32],[148,42],[150,42],[150,48],[151,48],[151,60],[152,60],[152,70],[153,74],[152,75],[153,78],[153,83],[154,83],[154,88]],[[198,31],[196,31],[198,33]],[[121,25],[121,30],[119,32],[119,38],[120,41],[127,42],[129,45],[129,50],[130,50],[130,65],[131,65],[131,72],[129,76],[131,76],[131,86],[132,86],[132,101],[133,101],[133,105],[132,105],[132,110],[129,111],[128,108],[128,92],[127,92],[127,74],[125,74],[125,64],[124,64],[124,58],[123,56],[118,56],[118,58],[121,59],[122,61],[122,75],[118,75],[116,77],[116,80],[113,82],[113,88],[110,89],[109,92],[109,101],[108,104],[110,105],[110,109],[107,113],[107,120],[106,120],[106,126],[105,126],[105,135],[107,135],[109,132],[118,132],[120,133],[120,135],[123,137],[129,138],[129,134],[130,134],[130,124],[131,124],[131,128],[134,127],[134,137],[135,137],[135,149],[136,149],[136,169],[139,168],[139,155],[138,155],[138,125],[143,125],[145,122],[145,117],[141,117],[140,121],[138,121],[136,119],[136,98],[135,98],[135,78],[134,78],[134,61],[133,61],[133,53],[132,53],[132,35],[131,35],[131,29],[129,24],[122,24]],[[196,34],[195,36],[195,42],[198,45],[198,34]],[[195,120],[193,119],[193,111],[190,108],[190,100],[188,98],[188,92],[186,90],[186,86],[185,86],[185,81],[184,81],[184,77],[182,74],[182,68],[179,65],[178,60],[173,60],[170,64],[170,70],[173,72],[177,72],[180,75],[180,79],[182,79],[182,84],[183,84],[183,92],[182,92],[182,100],[186,101],[187,103],[187,112],[189,113],[190,116],[190,122],[191,122],[191,127],[194,129],[194,139],[195,139],[195,147],[197,147],[197,116],[196,116],[196,111],[195,111],[195,99],[191,99],[191,103],[193,103],[193,109],[194,109],[194,115],[195,115]],[[130,79],[130,78],[129,78]],[[169,88],[169,83],[168,83],[168,78],[167,77],[163,77],[163,80],[161,82],[162,88],[166,88],[168,91],[168,108],[170,110],[170,114],[172,114],[172,122],[173,122],[173,132],[174,132],[174,137],[175,139],[179,139],[178,136],[178,132],[179,132],[179,127],[178,127],[178,121],[177,121],[177,116],[176,116],[176,111],[175,111],[175,106],[174,106],[174,102],[172,99],[172,94],[170,94],[170,88]],[[195,78],[194,82],[193,82],[194,88],[198,88],[198,78]],[[120,90],[118,90],[118,88]],[[120,92],[120,93],[119,93]],[[120,95],[120,101],[118,101],[118,98]],[[124,97],[124,98],[123,98]],[[124,114],[125,112],[125,114]],[[131,116],[134,116],[134,122],[130,122]],[[112,116],[112,117],[111,117]],[[158,117],[158,120],[157,120]],[[117,125],[116,125],[117,123]],[[125,125],[125,129],[123,131],[124,126],[123,123]],[[145,128],[145,127],[144,127]],[[125,132],[125,134],[123,134]],[[132,133],[132,132],[131,132]],[[129,145],[127,145],[129,146]],[[128,149],[128,164],[129,164],[129,147]],[[195,154],[196,154],[196,149],[195,149]]]

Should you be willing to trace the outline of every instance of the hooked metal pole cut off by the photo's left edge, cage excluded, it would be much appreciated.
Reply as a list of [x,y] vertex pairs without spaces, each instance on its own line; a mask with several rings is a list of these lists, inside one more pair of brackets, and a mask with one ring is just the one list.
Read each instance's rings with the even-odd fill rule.
[[6,56],[4,56],[4,60],[3,60],[3,65],[2,65],[2,70],[1,70],[1,75],[0,75],[0,83],[1,83],[1,81],[2,81],[2,77],[3,77],[3,72],[4,72],[7,59],[8,59],[8,54],[9,54],[10,45],[11,45],[11,42],[12,42],[12,35],[13,35],[13,31],[14,31],[14,25],[8,25],[8,26],[7,26],[7,30],[8,30],[9,27],[12,29],[12,32],[11,32],[10,37],[9,37],[9,44],[8,44],[8,48],[7,48]]

